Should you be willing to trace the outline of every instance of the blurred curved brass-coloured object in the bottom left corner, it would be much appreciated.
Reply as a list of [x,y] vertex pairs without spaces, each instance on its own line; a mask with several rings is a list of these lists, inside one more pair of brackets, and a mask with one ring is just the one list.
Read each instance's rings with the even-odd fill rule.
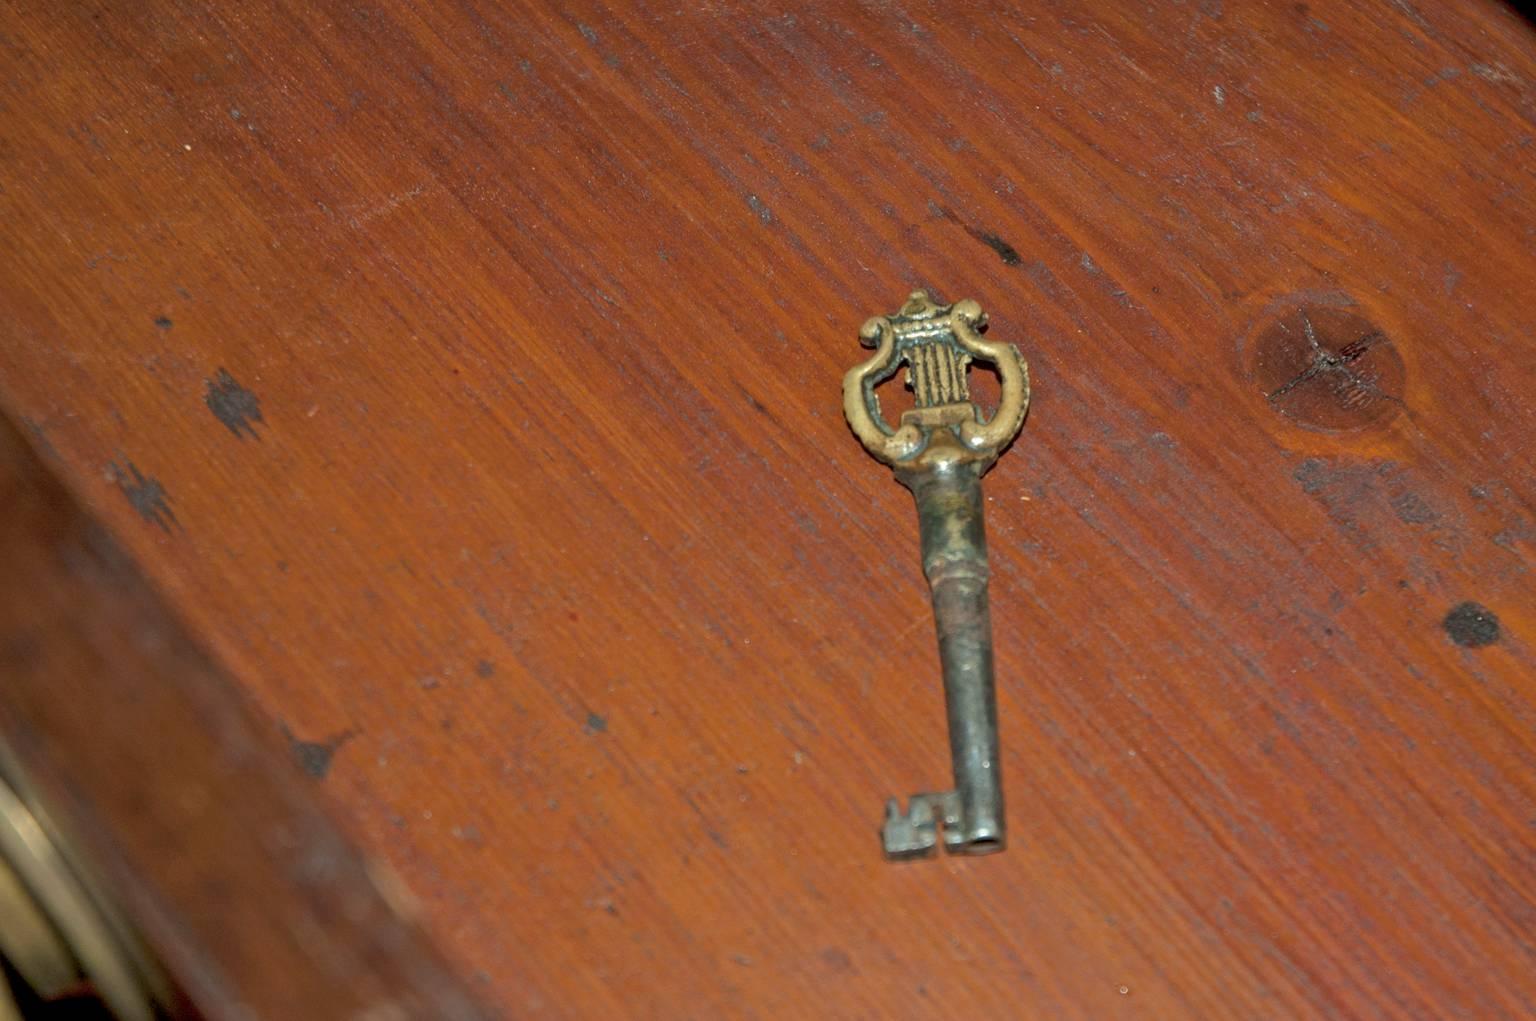
[[[0,957],[41,1000],[89,984],[114,1018],[152,1021],[164,978],[0,746]],[[20,1012],[0,978],[0,1021]]]

